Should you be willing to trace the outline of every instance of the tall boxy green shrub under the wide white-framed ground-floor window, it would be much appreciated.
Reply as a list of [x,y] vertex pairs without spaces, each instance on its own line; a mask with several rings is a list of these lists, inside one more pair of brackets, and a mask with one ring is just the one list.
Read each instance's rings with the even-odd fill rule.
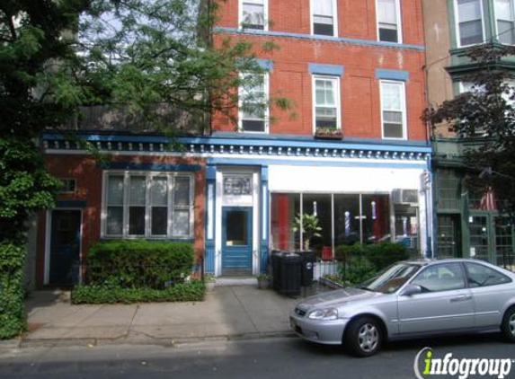
[[90,285],[162,289],[182,282],[193,265],[188,242],[111,240],[95,243],[87,254]]

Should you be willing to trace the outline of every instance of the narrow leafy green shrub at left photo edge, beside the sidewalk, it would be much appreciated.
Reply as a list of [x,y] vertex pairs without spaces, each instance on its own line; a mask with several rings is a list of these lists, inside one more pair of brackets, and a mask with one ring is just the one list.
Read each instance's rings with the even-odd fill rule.
[[23,246],[0,243],[0,339],[16,337],[27,328],[22,286],[24,260]]

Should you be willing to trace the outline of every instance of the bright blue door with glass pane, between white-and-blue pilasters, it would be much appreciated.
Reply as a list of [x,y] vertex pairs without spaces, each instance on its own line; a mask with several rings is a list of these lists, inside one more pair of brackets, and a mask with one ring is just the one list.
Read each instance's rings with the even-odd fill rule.
[[252,211],[252,207],[222,208],[222,271],[252,268]]

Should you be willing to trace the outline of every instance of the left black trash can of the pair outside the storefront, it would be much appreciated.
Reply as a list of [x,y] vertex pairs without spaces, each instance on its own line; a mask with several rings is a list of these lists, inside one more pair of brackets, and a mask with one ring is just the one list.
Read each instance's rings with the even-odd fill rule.
[[272,253],[273,287],[281,295],[300,295],[301,257],[290,251]]

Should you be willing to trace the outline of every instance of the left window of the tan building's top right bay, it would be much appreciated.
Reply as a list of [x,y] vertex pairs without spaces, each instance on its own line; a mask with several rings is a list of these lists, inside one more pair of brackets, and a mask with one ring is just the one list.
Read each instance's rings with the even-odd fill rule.
[[482,0],[455,0],[459,46],[484,41]]

